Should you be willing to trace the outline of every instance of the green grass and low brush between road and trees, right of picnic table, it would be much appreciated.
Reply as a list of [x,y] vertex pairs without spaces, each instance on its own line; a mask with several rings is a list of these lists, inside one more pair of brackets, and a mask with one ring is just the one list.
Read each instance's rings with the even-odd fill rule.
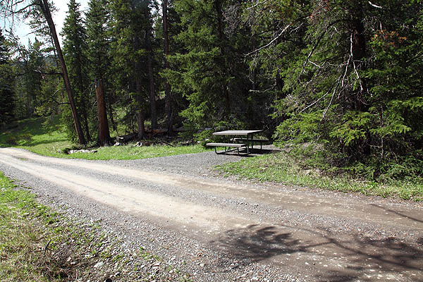
[[[324,161],[324,154],[305,157],[298,152],[277,152],[218,166],[226,176],[272,181],[286,185],[360,192],[364,195],[398,197],[403,200],[423,201],[423,177],[384,178],[369,180],[350,168],[336,168]],[[357,172],[357,171],[355,171]],[[382,178],[380,178],[382,179]]]

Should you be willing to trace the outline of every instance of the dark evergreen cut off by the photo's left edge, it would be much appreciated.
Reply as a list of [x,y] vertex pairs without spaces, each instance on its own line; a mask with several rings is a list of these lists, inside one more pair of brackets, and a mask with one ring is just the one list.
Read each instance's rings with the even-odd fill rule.
[[13,82],[15,73],[11,64],[6,37],[0,29],[0,125],[11,121],[14,117],[15,97],[13,92]]

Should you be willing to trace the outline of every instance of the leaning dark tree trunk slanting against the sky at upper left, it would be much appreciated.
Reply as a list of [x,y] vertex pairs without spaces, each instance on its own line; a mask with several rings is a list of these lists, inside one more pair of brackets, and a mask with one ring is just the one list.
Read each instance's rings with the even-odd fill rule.
[[72,94],[71,82],[69,81],[68,68],[66,68],[66,63],[65,63],[65,60],[63,59],[63,54],[61,51],[59,38],[57,37],[57,33],[56,33],[56,27],[54,26],[53,18],[51,18],[49,3],[47,0],[42,0],[39,2],[39,4],[41,6],[42,13],[44,14],[44,18],[46,18],[47,23],[49,25],[50,34],[51,34],[51,37],[53,38],[54,47],[56,49],[57,56],[59,58],[59,62],[62,68],[63,82],[65,84],[66,92],[68,93],[69,104],[71,104],[71,111],[72,111],[73,121],[75,123],[76,134],[78,135],[78,141],[80,145],[85,145],[87,142],[85,141],[84,133],[82,132],[81,123],[78,117],[78,112],[76,111],[75,101],[73,99],[73,94]]

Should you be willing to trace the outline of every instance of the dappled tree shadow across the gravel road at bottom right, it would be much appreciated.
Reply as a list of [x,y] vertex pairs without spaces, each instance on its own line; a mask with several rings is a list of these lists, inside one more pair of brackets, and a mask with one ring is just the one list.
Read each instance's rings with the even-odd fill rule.
[[[297,236],[297,231],[302,235]],[[395,238],[375,239],[360,233],[340,238],[325,228],[250,225],[228,230],[212,243],[247,264],[277,257],[287,272],[312,274],[315,281],[355,281],[365,278],[364,274],[379,273],[403,273],[412,281],[423,281],[423,248]],[[300,257],[299,263],[293,257]],[[313,262],[314,257],[318,259]]]

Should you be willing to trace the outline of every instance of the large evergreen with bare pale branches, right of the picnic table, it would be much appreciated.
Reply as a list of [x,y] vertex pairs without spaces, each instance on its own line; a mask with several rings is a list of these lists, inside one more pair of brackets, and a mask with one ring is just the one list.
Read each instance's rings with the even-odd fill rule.
[[404,173],[398,164],[422,157],[422,3],[311,1],[308,11],[305,44],[287,52],[276,137],[320,143],[332,164],[369,178]]

